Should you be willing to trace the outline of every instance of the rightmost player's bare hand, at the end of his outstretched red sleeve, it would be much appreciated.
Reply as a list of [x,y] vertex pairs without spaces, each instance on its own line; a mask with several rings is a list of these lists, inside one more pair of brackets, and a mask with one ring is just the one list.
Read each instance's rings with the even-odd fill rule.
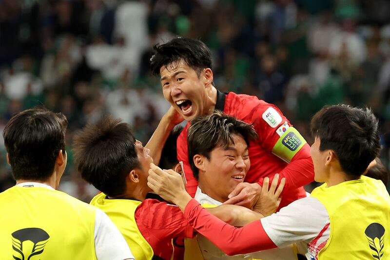
[[153,163],[150,164],[148,186],[161,198],[176,205],[178,200],[188,195],[180,174],[174,170],[162,170]]

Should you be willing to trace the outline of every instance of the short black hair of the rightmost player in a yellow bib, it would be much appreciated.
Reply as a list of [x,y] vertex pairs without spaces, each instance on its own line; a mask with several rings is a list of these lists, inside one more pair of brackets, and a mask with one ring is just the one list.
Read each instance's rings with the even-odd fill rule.
[[320,139],[320,151],[333,150],[353,177],[362,175],[381,150],[378,120],[369,108],[325,106],[313,116],[311,131]]

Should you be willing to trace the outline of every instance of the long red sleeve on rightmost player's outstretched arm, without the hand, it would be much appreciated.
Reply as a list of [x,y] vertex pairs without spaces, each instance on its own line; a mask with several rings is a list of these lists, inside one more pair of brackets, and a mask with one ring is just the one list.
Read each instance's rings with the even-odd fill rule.
[[195,199],[187,204],[184,216],[196,231],[230,256],[276,247],[264,231],[260,220],[236,228],[210,214]]

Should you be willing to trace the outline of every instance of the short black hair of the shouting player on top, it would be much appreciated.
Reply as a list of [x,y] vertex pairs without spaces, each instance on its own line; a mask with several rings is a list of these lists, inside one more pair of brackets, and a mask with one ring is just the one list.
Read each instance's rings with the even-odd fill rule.
[[176,37],[166,43],[153,46],[153,56],[150,59],[152,74],[158,76],[160,68],[174,64],[180,60],[195,70],[196,74],[205,68],[212,69],[211,52],[200,40]]

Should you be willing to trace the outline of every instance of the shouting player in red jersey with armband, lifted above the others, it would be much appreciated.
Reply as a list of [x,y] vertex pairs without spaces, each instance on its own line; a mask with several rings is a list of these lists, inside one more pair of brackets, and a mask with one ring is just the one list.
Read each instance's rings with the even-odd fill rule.
[[[237,185],[228,203],[253,206],[263,178],[272,179],[277,173],[286,178],[280,206],[306,196],[303,185],[314,179],[310,146],[276,106],[254,96],[218,91],[210,50],[200,40],[175,38],[156,45],[154,51],[152,73],[160,76],[164,97],[172,105],[147,144],[156,163],[166,137],[180,119],[191,121],[220,110],[253,124],[259,136],[249,147],[252,167],[246,182]],[[183,161],[187,191],[194,196],[198,183],[188,160],[188,125],[177,140],[177,158]]]

